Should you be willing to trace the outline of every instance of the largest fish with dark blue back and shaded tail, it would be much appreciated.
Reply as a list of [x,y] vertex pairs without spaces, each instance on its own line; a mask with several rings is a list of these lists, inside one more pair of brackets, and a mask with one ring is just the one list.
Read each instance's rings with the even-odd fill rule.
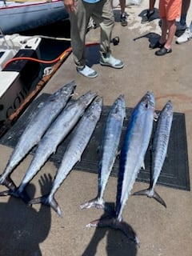
[[88,224],[88,226],[110,226],[122,230],[136,244],[138,244],[136,234],[130,230],[130,226],[126,222],[122,221],[122,210],[140,168],[144,167],[144,158],[153,128],[154,104],[154,94],[147,92],[131,114],[119,159],[118,190],[114,214],[111,218],[102,218]]

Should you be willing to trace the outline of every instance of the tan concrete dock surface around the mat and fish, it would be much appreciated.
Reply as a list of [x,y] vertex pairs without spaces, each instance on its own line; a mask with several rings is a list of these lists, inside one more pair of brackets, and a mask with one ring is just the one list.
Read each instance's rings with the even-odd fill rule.
[[[159,19],[141,24],[141,14],[148,8],[148,1],[140,6],[126,8],[128,26],[116,22],[113,37],[118,36],[118,46],[111,44],[114,57],[120,58],[125,66],[121,70],[100,66],[98,46],[89,47],[87,56],[98,77],[85,78],[74,67],[73,56],[62,64],[47,83],[42,93],[51,94],[72,80],[77,84],[74,98],[96,91],[106,106],[113,104],[119,94],[124,94],[126,106],[134,107],[147,90],[154,92],[156,109],[161,110],[171,100],[174,112],[186,117],[186,138],[189,158],[190,184],[192,184],[192,62],[191,43],[182,45],[173,42],[173,52],[163,57],[155,56],[150,50],[150,39],[161,33]],[[158,2],[156,4],[158,8]],[[119,14],[119,7],[115,8]],[[191,8],[187,16],[192,20]],[[99,28],[90,30],[87,42],[98,42]],[[93,50],[94,49],[94,50]],[[11,139],[11,138],[10,138]],[[10,158],[12,148],[0,145],[1,171]],[[175,149],[179,154],[179,148]],[[29,154],[14,170],[12,178],[18,185],[30,164]],[[30,196],[38,197],[49,192],[51,179],[57,168],[53,162],[45,166],[30,183]],[[43,186],[46,185],[46,186]],[[145,189],[147,184],[135,182],[132,192]],[[117,178],[110,177],[106,186],[106,202],[115,202]],[[5,187],[0,187],[5,190]],[[80,205],[94,198],[98,190],[98,174],[72,170],[60,186],[56,200],[62,210],[59,218],[54,210],[46,206],[26,206],[22,200],[11,197],[0,198],[1,209],[1,256],[191,256],[192,254],[192,194],[167,186],[156,186],[158,194],[165,200],[164,208],[154,199],[130,196],[123,210],[123,219],[136,232],[140,247],[130,242],[119,230],[110,228],[87,228],[86,224],[101,218],[102,210],[81,210]]]

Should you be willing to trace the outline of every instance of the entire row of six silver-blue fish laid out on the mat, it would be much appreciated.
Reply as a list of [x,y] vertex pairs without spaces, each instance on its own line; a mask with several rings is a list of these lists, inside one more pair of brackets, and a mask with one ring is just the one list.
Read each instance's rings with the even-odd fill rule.
[[[82,153],[86,149],[102,114],[102,98],[98,97],[96,93],[89,91],[78,99],[71,101],[70,98],[74,93],[75,87],[74,82],[70,82],[52,94],[26,126],[10,156],[6,169],[0,176],[0,184],[9,189],[1,192],[0,195],[10,194],[14,197],[22,198],[28,204],[42,203],[46,206],[51,206],[59,216],[62,216],[62,211],[58,206],[58,202],[54,199],[54,195],[70,173],[70,170],[81,160]],[[122,126],[126,118],[125,98],[123,95],[119,95],[110,108],[102,134],[101,157],[98,166],[98,194],[96,198],[81,205],[82,209],[102,208],[109,213],[107,218],[95,220],[87,226],[110,226],[122,230],[136,244],[138,244],[138,238],[134,230],[126,222],[122,221],[122,211],[138,177],[139,170],[142,167],[145,168],[144,159],[150,144],[154,117],[156,117],[154,94],[147,92],[134,107],[123,138],[119,154],[116,204],[115,209],[110,209],[103,196],[115,158],[119,153]],[[157,126],[152,136],[150,187],[147,190],[134,193],[136,195],[145,194],[148,197],[155,198],[163,206],[166,206],[166,203],[154,190],[154,186],[158,181],[166,158],[172,119],[173,107],[171,102],[168,101],[158,116]],[[50,155],[56,151],[58,145],[66,138],[70,130],[73,130],[72,138],[63,154],[62,162],[58,167],[50,193],[42,195],[40,198],[30,199],[26,194],[26,185],[42,168],[50,158]],[[22,182],[17,187],[10,175],[19,162],[36,145],[38,147],[34,158],[28,170],[26,170]]]

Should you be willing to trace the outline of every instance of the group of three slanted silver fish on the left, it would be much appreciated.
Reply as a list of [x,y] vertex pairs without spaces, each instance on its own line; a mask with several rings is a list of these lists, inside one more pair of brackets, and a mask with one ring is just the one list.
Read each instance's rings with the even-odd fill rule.
[[[10,194],[16,198],[22,198],[28,204],[42,202],[51,206],[60,216],[62,215],[58,203],[54,199],[54,194],[73,166],[80,161],[102,113],[102,98],[96,98],[96,93],[88,91],[78,99],[70,101],[74,89],[74,82],[70,82],[51,95],[26,126],[10,156],[6,169],[0,177],[0,184],[7,186],[9,190],[1,192],[0,195]],[[54,178],[50,194],[30,200],[26,194],[26,185],[34,178],[50,155],[56,151],[59,143],[66,138],[77,123],[73,138],[63,155],[61,166]],[[18,163],[22,161],[22,158],[37,144],[34,158],[26,170],[22,182],[17,187],[10,175]]]

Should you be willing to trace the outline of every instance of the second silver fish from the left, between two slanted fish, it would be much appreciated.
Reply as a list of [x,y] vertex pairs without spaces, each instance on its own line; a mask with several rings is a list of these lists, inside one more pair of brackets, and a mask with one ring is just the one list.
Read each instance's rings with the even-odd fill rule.
[[35,151],[34,158],[32,159],[28,170],[18,188],[8,190],[0,193],[0,195],[10,194],[17,198],[22,198],[24,202],[28,202],[29,198],[25,193],[25,187],[30,182],[38,170],[42,168],[51,154],[55,153],[58,144],[62,142],[70,130],[74,128],[78,119],[84,114],[86,107],[97,96],[96,93],[88,91],[86,94],[79,97],[74,102],[68,102],[62,113],[51,124],[46,134],[43,135],[41,141],[38,143],[38,148]]

